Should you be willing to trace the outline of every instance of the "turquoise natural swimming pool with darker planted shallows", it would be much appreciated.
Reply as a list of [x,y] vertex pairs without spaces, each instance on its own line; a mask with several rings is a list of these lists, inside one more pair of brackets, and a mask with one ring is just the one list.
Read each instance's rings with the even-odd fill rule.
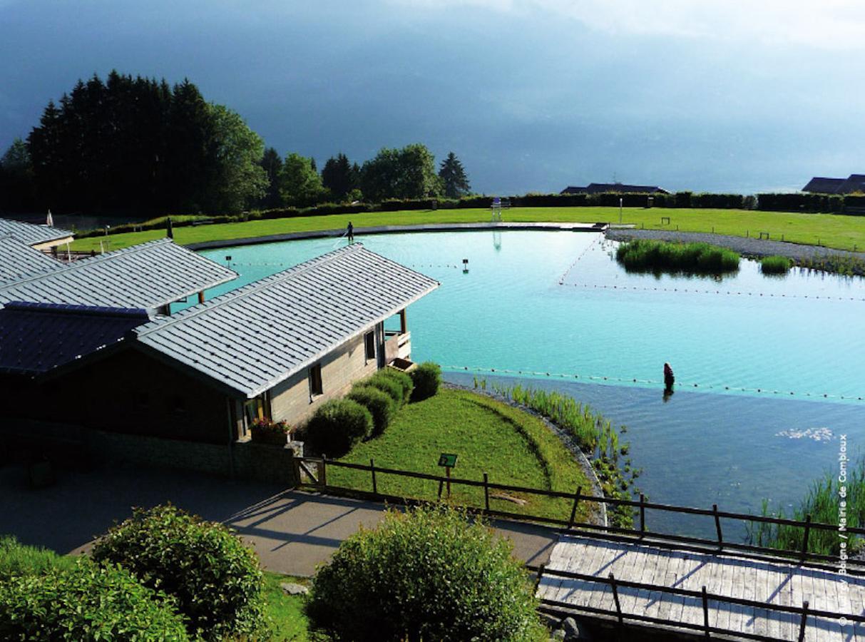
[[[441,282],[409,310],[416,361],[442,363],[448,378],[470,386],[474,376],[513,376],[588,402],[628,427],[631,459],[644,469],[638,484],[653,501],[759,512],[767,498],[786,507],[836,465],[839,434],[854,453],[865,442],[862,279],[770,279],[746,261],[720,281],[656,279],[625,273],[598,234],[563,231],[362,242]],[[222,263],[231,255],[241,279],[224,291],[344,243],[203,254]],[[666,402],[664,362],[678,382]]]

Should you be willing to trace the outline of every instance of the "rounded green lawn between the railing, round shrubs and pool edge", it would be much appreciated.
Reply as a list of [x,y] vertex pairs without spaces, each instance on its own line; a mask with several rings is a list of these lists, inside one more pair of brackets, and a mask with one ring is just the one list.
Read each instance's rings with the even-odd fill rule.
[[[340,459],[356,464],[398,468],[413,472],[443,475],[439,454],[457,453],[454,478],[482,481],[484,472],[490,482],[573,493],[578,486],[589,492],[588,481],[571,453],[533,415],[468,391],[442,388],[425,401],[407,404],[400,409],[387,430],[373,440],[356,446]],[[338,466],[328,467],[328,484],[372,490],[370,474]],[[377,473],[378,491],[400,498],[434,499],[437,482]],[[496,491],[490,491],[494,494]],[[529,493],[509,493],[526,504],[509,499],[492,499],[490,508],[526,515],[570,517],[572,502],[567,499],[543,498]],[[484,506],[484,490],[454,485],[452,499],[460,504]],[[582,504],[580,519],[588,517],[589,507]]]

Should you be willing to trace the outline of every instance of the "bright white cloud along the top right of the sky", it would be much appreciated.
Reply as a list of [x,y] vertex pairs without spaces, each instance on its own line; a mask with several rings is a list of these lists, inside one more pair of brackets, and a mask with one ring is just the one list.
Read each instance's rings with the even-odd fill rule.
[[860,0],[391,0],[424,10],[473,7],[573,19],[612,34],[670,35],[719,41],[865,47]]

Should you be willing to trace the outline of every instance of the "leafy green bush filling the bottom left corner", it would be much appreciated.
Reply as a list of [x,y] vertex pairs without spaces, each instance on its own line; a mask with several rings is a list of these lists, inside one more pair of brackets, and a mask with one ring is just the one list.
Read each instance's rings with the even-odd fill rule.
[[124,568],[81,558],[0,581],[0,639],[188,639],[173,604]]

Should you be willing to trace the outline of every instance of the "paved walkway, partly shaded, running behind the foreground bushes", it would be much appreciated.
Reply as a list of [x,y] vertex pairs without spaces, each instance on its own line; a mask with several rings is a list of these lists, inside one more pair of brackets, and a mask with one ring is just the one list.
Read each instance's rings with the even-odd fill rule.
[[[61,553],[80,553],[93,537],[131,515],[132,506],[170,501],[205,519],[227,523],[258,552],[265,568],[312,575],[317,564],[360,524],[372,527],[384,506],[292,491],[279,485],[231,481],[193,472],[104,468],[58,473],[57,484],[31,490],[18,466],[0,468],[0,534]],[[527,523],[497,521],[517,557],[547,562],[558,535]]]

